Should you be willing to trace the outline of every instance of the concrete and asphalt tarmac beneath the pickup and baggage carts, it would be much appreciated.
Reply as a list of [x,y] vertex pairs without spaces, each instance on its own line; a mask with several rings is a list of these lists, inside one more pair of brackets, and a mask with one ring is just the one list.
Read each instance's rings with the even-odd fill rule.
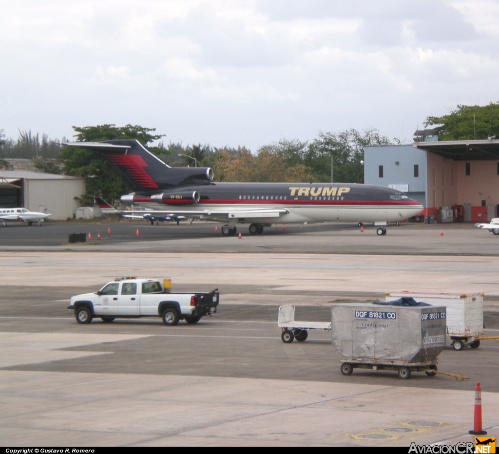
[[[0,242],[3,445],[455,445],[473,442],[477,382],[483,428],[497,436],[497,342],[440,354],[439,371],[467,380],[345,377],[329,332],[281,342],[277,308],[326,321],[331,304],[386,291],[484,292],[486,334],[499,335],[499,237],[470,225],[443,235],[441,225],[402,225],[382,237],[372,227],[286,226],[242,239],[208,225],[131,226],[139,237],[101,233],[78,245],[16,242],[16,229],[45,235],[49,224],[0,229],[5,241],[14,235]],[[175,234],[157,236],[165,231]],[[173,291],[218,287],[219,311],[176,327],[159,318],[77,324],[68,298],[119,275],[170,277]]]

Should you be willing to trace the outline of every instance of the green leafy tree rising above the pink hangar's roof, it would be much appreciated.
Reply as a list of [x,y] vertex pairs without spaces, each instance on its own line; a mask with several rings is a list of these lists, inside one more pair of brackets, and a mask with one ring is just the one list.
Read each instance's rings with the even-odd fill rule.
[[425,127],[433,126],[439,140],[487,139],[499,137],[499,103],[487,106],[458,104],[448,115],[427,117]]

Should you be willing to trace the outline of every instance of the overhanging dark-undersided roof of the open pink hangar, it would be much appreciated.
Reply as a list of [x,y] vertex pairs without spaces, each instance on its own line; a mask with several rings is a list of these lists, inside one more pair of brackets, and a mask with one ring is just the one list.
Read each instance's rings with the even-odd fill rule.
[[413,146],[451,161],[499,161],[499,140],[496,139],[416,142]]

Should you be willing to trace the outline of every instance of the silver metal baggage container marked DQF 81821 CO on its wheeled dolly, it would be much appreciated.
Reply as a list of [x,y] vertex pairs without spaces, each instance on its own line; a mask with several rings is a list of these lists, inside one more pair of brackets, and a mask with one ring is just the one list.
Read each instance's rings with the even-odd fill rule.
[[340,353],[340,371],[395,370],[407,380],[412,372],[437,373],[445,347],[445,306],[342,304],[331,307],[332,343]]

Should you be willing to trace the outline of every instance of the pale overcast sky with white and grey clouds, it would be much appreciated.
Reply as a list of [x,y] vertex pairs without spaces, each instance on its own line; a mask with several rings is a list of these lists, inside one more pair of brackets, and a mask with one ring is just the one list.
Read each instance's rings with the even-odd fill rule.
[[499,101],[498,0],[1,1],[0,129],[259,146]]

